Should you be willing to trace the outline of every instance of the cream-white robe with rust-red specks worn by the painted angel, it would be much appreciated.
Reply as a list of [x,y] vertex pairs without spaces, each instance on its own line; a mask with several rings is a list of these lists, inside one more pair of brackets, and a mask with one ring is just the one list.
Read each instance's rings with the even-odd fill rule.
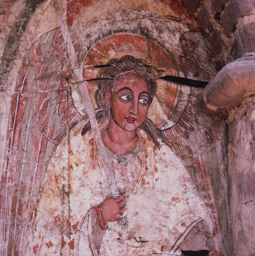
[[[102,177],[95,141],[89,133],[81,136],[82,127],[73,128],[54,150],[27,255],[98,254],[94,236],[102,230],[94,226],[92,209],[114,191]],[[127,189],[128,225],[108,224],[99,255],[181,255],[178,246],[188,232],[202,219],[213,227],[211,218],[174,152],[162,143],[156,148],[141,129],[137,135],[137,154],[121,162],[111,154]]]

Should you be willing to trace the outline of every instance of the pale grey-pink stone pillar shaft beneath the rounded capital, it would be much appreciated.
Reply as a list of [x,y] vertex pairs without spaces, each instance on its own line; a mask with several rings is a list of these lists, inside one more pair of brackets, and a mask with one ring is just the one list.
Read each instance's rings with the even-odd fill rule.
[[246,113],[238,121],[235,119],[228,125],[228,176],[233,255],[255,254],[255,101],[254,98],[249,99]]

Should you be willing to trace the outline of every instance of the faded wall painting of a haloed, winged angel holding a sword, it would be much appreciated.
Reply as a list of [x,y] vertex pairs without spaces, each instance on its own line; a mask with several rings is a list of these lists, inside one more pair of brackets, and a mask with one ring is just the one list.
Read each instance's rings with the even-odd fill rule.
[[[1,176],[3,251],[222,255],[230,239],[222,239],[222,230],[229,229],[228,197],[219,199],[217,190],[228,186],[226,127],[199,106],[199,82],[216,74],[215,63],[201,64],[209,63],[210,46],[200,25],[174,1],[160,1],[155,13],[168,16],[161,35],[157,29],[139,33],[132,24],[118,28],[115,21],[105,24],[105,33],[97,24],[93,34],[86,26],[94,16],[82,16],[93,13],[93,2],[69,1],[62,13],[67,30],[57,18],[52,21],[19,68]],[[147,7],[138,9],[151,11]],[[51,3],[45,10],[61,13]],[[106,13],[97,9],[97,15],[112,15]],[[82,86],[104,150],[96,143]]]

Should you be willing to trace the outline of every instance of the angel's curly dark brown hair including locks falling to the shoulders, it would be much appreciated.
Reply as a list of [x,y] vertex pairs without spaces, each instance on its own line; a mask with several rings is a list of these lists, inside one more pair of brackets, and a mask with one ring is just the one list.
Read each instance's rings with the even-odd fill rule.
[[[130,55],[123,56],[121,59],[112,59],[107,62],[107,67],[102,68],[98,73],[98,78],[102,79],[95,93],[95,100],[98,106],[95,110],[95,117],[98,124],[109,121],[110,118],[110,109],[105,100],[105,94],[112,92],[116,80],[118,80],[122,75],[131,72],[135,72],[141,76],[144,81],[146,81],[149,91],[149,105],[151,104],[157,90],[157,82],[154,73],[151,71],[151,68],[146,61],[136,59]],[[165,141],[163,133],[156,128],[150,119],[146,118],[140,128],[150,135],[157,147],[160,146],[158,141],[159,138]],[[85,135],[90,130],[90,122],[87,120],[84,128],[82,129],[81,135]]]

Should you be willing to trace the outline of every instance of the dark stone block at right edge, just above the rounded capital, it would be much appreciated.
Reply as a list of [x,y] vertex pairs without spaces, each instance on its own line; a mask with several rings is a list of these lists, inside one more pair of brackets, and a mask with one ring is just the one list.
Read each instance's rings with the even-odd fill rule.
[[255,52],[255,23],[245,25],[235,37],[231,49],[234,60],[242,57],[244,53]]

